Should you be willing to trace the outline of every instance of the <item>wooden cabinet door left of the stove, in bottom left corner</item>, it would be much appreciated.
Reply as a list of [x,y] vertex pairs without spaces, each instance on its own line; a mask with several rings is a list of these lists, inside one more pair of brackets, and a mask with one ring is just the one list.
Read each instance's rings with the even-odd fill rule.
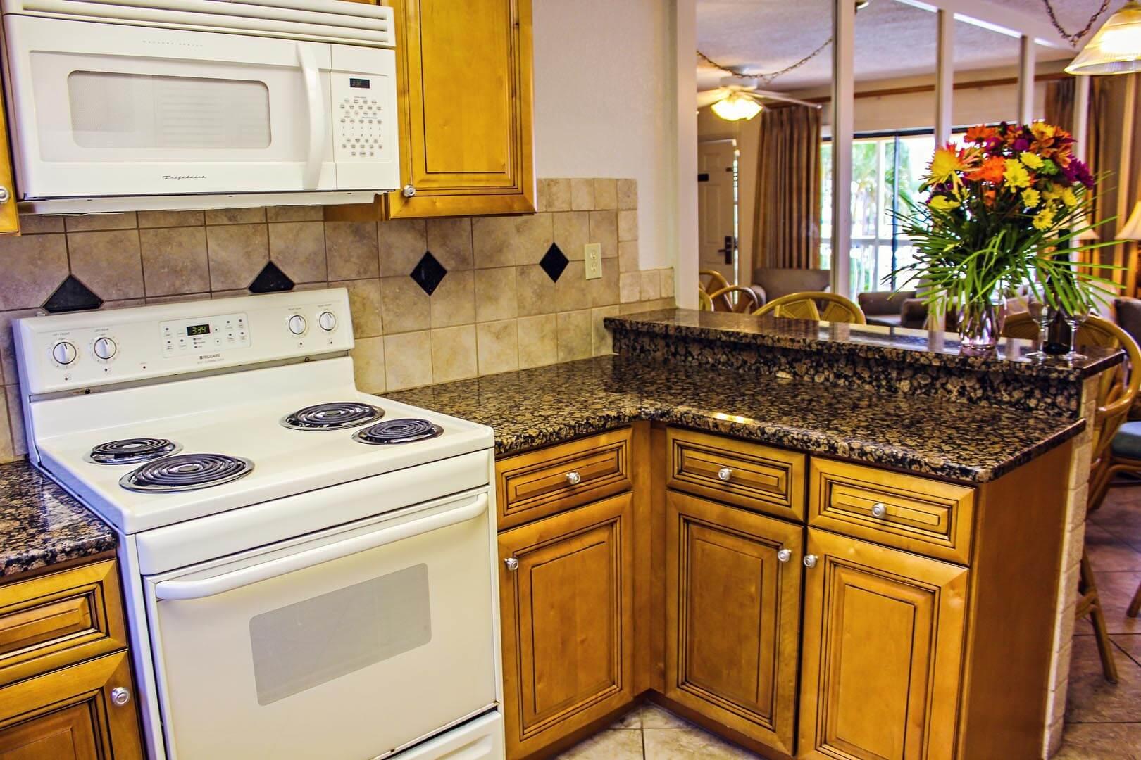
[[[130,697],[115,704],[112,693]],[[136,760],[143,757],[127,652],[0,689],[0,759]],[[120,693],[121,694],[121,693]]]

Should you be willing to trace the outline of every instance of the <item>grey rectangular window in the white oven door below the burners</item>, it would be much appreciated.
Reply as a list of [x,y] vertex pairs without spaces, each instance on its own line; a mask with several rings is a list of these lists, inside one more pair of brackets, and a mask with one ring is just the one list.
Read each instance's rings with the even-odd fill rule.
[[322,594],[250,620],[258,704],[431,641],[428,565]]

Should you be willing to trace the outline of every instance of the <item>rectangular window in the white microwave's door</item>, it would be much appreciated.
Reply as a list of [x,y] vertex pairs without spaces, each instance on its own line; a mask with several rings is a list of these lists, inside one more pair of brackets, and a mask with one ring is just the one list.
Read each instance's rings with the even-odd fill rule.
[[83,148],[267,148],[265,82],[72,72],[67,98]]

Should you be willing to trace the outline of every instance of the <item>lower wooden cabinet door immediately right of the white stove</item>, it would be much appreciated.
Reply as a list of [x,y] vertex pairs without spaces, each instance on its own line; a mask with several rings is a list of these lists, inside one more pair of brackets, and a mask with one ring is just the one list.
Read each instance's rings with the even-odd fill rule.
[[630,493],[499,536],[508,757],[633,700]]

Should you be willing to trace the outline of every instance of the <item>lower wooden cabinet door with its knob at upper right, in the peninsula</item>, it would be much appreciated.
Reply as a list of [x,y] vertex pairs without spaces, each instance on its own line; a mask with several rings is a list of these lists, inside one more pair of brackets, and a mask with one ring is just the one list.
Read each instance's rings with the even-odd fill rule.
[[798,525],[666,493],[666,696],[785,753],[802,544]]

